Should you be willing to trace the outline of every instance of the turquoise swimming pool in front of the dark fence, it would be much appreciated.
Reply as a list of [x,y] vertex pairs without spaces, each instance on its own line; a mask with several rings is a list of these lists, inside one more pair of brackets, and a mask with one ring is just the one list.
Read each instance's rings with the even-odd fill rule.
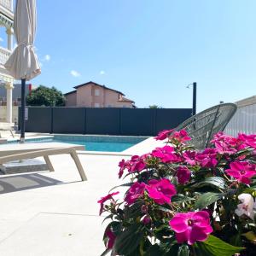
[[121,152],[127,148],[131,148],[131,146],[134,146],[137,143],[143,142],[146,138],[148,137],[54,135],[53,137],[44,138],[26,138],[26,143],[71,143],[84,145],[85,150],[88,151]]

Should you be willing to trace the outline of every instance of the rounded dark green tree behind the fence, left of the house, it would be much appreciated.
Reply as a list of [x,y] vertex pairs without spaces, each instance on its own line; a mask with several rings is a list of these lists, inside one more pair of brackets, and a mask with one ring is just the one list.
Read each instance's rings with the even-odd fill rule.
[[65,97],[61,90],[55,87],[39,85],[37,89],[31,91],[30,95],[26,96],[26,104],[28,106],[61,107],[65,106]]

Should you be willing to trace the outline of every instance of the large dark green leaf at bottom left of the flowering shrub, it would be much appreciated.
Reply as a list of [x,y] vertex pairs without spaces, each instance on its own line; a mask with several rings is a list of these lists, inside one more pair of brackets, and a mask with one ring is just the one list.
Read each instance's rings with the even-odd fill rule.
[[113,247],[119,255],[129,255],[136,251],[140,241],[143,239],[141,225],[132,224],[116,237]]

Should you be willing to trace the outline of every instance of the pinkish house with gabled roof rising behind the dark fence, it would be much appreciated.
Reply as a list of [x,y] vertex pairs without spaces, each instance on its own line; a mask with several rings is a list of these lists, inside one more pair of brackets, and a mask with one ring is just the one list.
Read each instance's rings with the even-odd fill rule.
[[88,82],[74,87],[65,94],[66,107],[86,108],[135,108],[134,102],[125,95],[102,84]]

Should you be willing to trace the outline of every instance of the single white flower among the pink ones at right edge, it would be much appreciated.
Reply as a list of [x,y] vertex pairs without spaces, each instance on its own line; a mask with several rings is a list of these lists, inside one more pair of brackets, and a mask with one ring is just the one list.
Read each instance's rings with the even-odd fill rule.
[[250,194],[241,194],[241,195],[238,195],[238,199],[241,201],[241,204],[237,205],[237,208],[235,210],[236,215],[240,217],[242,214],[245,214],[249,218],[252,218],[254,220],[253,196]]

